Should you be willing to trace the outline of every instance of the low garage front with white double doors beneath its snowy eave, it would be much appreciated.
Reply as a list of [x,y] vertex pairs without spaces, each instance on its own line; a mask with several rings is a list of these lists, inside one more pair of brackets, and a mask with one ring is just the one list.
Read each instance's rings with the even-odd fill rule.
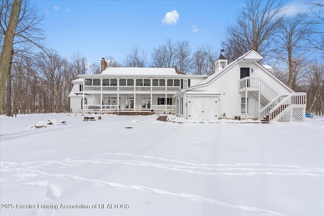
[[218,119],[219,93],[186,92],[187,118],[193,120]]

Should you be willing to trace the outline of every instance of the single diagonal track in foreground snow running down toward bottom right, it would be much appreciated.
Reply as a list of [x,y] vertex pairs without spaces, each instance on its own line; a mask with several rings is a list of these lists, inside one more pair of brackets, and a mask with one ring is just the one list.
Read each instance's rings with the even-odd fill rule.
[[[184,198],[184,199],[190,199],[190,200],[200,200],[200,201],[204,201],[211,205],[234,208],[234,209],[244,210],[244,211],[252,211],[255,213],[268,213],[268,214],[279,215],[279,216],[285,215],[285,214],[282,214],[282,213],[279,213],[276,211],[271,211],[268,209],[259,208],[259,207],[255,207],[255,206],[235,205],[235,204],[231,204],[231,203],[228,203],[225,201],[211,199],[211,198],[207,198],[207,197],[203,197],[203,196],[199,196],[199,195],[186,194],[186,193],[175,193],[175,192],[172,192],[169,190],[161,190],[161,189],[151,188],[151,187],[147,187],[147,186],[143,186],[143,185],[125,185],[125,184],[121,184],[121,183],[108,182],[108,181],[97,180],[97,179],[89,179],[89,178],[75,176],[75,175],[69,175],[69,174],[51,174],[50,172],[45,172],[45,171],[36,170],[36,169],[9,168],[9,167],[5,167],[5,168],[10,169],[10,171],[19,171],[19,172],[28,171],[28,172],[32,172],[33,174],[38,174],[39,176],[43,176],[43,177],[65,178],[65,179],[70,179],[70,180],[75,180],[75,181],[88,182],[88,183],[92,183],[95,185],[106,185],[106,186],[117,188],[117,189],[130,189],[130,190],[146,191],[146,192],[151,192],[151,193],[159,194],[159,195]],[[36,184],[36,183],[31,183],[29,185],[39,186],[39,184]],[[8,186],[5,186],[5,187],[8,187]]]

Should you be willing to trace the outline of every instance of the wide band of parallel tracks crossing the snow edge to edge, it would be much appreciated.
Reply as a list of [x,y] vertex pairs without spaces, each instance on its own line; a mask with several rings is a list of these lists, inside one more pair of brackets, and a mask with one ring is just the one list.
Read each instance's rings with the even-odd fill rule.
[[[261,165],[247,165],[240,164],[210,164],[210,166],[199,166],[195,165],[174,165],[174,164],[165,164],[165,163],[153,163],[141,160],[118,160],[118,159],[88,159],[88,160],[75,160],[71,158],[63,159],[61,161],[37,161],[37,162],[23,162],[23,163],[14,163],[14,162],[1,162],[1,168],[3,171],[6,171],[5,164],[14,166],[14,167],[24,167],[26,169],[34,167],[42,167],[50,164],[59,164],[60,168],[66,166],[77,166],[85,163],[98,163],[98,164],[124,164],[124,165],[133,165],[133,166],[151,166],[162,169],[169,169],[175,171],[189,172],[191,174],[199,175],[227,175],[227,176],[251,176],[251,175],[271,175],[271,176],[312,176],[312,177],[323,177],[324,169],[319,168],[294,168],[292,165],[287,165],[289,168],[286,168],[285,165],[280,165],[279,168],[274,164],[267,164],[267,167],[261,167]],[[29,166],[28,166],[29,165]],[[236,166],[235,166],[236,165]],[[216,167],[215,167],[216,166]],[[251,167],[252,166],[252,167]],[[302,166],[298,166],[302,167]],[[16,177],[23,177],[17,176]]]

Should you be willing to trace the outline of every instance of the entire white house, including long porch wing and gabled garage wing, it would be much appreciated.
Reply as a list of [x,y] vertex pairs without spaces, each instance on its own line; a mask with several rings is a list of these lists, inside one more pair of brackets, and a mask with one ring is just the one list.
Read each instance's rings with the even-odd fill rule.
[[[72,81],[71,112],[167,112],[188,119],[303,121],[306,93],[295,93],[251,50],[235,61],[220,55],[216,72],[188,75],[175,68],[111,68]],[[218,71],[217,71],[218,70]],[[118,99],[118,100],[117,100]]]

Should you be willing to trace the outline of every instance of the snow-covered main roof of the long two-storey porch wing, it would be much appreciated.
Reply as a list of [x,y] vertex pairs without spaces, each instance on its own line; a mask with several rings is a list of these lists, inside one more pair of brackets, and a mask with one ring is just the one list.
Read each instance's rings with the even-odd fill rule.
[[107,67],[101,75],[140,75],[140,76],[166,76],[179,75],[175,68],[148,68],[148,67]]

